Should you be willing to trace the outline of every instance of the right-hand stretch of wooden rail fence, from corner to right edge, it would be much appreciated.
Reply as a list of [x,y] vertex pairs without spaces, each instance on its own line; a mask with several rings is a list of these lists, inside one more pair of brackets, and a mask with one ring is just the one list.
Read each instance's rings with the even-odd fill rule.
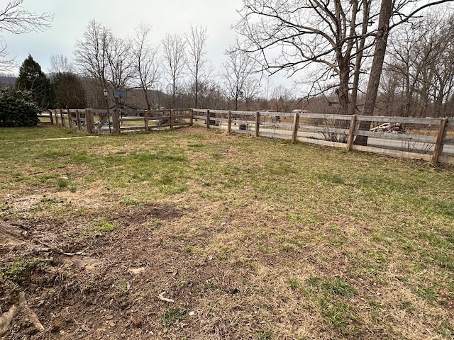
[[[321,113],[276,113],[193,109],[194,122],[206,128],[276,137],[328,147],[454,164],[454,119]],[[360,123],[367,130],[360,130]],[[377,127],[391,127],[385,131]],[[200,123],[199,123],[200,124]],[[355,145],[358,137],[367,145]]]

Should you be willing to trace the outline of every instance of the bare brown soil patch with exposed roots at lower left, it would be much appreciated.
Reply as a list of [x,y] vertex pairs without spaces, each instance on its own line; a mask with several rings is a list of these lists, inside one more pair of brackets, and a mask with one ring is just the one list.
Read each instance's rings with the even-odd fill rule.
[[[1,339],[257,339],[265,332],[270,320],[248,306],[258,294],[248,284],[255,268],[206,248],[228,219],[209,229],[198,216],[219,207],[74,195],[9,198],[0,220],[0,266],[8,273]],[[99,231],[90,227],[96,221],[116,227]],[[254,261],[275,262],[253,253]]]

